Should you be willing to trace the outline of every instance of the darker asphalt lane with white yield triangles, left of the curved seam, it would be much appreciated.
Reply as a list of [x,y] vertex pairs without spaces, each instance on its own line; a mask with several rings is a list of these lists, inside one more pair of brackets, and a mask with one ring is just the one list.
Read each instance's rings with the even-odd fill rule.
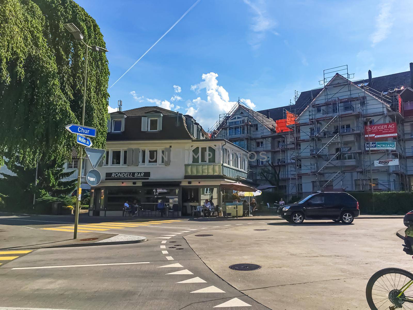
[[[69,238],[71,231],[47,230],[70,227],[71,224],[64,223],[69,219],[63,219],[2,217],[0,229],[13,229],[16,239],[20,237],[24,242],[25,232],[33,229],[45,236],[60,234],[61,238]],[[243,306],[268,309],[216,276],[183,238],[210,229],[259,227],[264,223],[91,219],[89,224],[95,225],[85,227],[102,229],[98,227],[106,225],[108,229],[97,231],[140,235],[148,241],[117,246],[42,248],[14,254],[18,257],[0,265],[0,278],[7,284],[0,290],[0,307],[190,310]],[[22,220],[21,225],[17,224],[19,220]],[[54,221],[59,223],[53,224]],[[83,217],[82,222],[88,222],[88,218]]]

